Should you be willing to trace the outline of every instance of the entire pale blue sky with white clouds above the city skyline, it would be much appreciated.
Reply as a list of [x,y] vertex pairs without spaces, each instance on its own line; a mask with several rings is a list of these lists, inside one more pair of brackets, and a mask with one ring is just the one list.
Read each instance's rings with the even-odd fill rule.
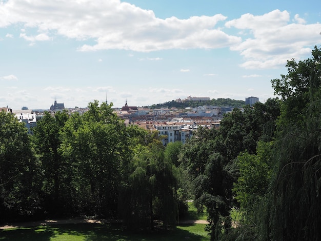
[[0,107],[264,103],[320,21],[319,0],[0,0]]

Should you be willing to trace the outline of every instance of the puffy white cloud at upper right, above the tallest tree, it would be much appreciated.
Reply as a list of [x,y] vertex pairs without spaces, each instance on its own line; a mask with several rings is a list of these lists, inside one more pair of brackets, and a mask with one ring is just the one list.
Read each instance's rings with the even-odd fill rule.
[[239,51],[246,69],[267,69],[284,67],[288,59],[305,57],[311,54],[307,46],[319,43],[321,24],[305,25],[305,21],[295,15],[296,23],[290,22],[287,11],[274,10],[260,16],[244,14],[238,19],[228,21],[225,26],[251,35],[231,50]]

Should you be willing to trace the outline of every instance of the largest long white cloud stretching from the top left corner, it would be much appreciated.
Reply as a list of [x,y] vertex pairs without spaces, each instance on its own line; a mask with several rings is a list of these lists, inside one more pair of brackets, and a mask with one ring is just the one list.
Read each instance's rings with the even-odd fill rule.
[[[240,37],[216,27],[227,18],[222,14],[157,18],[153,11],[120,0],[8,0],[2,2],[0,27],[23,24],[40,34],[57,34],[84,44],[79,51],[125,49],[150,52],[164,49],[213,49],[238,44]],[[36,36],[22,35],[26,40]],[[47,39],[49,36],[47,36]]]

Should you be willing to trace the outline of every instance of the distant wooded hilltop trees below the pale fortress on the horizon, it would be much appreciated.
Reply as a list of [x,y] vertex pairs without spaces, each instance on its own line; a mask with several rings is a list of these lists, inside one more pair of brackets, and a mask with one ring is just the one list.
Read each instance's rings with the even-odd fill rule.
[[245,106],[245,101],[239,101],[230,98],[217,98],[211,99],[210,101],[185,101],[185,102],[176,102],[169,101],[163,104],[154,104],[151,105],[151,109],[156,108],[178,108],[184,109],[187,107],[198,107],[198,106],[219,106],[219,107],[234,107],[234,108],[242,108]]

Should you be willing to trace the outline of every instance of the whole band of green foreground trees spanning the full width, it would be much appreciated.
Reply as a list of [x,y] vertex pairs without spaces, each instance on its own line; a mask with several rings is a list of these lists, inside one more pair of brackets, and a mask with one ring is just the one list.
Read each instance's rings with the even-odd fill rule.
[[184,145],[125,127],[106,103],[47,113],[33,136],[2,112],[0,218],[98,215],[152,229],[175,225],[194,199],[211,240],[319,240],[320,63],[317,48],[288,61],[272,80],[279,98],[235,108]]

